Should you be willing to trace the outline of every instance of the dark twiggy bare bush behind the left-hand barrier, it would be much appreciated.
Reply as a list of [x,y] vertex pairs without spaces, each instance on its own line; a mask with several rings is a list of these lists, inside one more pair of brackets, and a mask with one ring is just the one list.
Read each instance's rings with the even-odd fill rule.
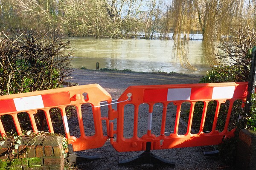
[[63,38],[53,29],[0,33],[0,95],[58,88],[72,71]]

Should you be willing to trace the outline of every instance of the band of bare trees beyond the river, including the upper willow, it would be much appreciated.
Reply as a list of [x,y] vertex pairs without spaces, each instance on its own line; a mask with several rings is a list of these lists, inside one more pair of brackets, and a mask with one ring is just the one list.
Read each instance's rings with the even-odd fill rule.
[[230,24],[255,25],[254,3],[250,0],[0,0],[0,30],[54,28],[78,37],[130,38],[138,32],[143,32],[146,39],[155,32],[162,39],[168,39],[170,32],[174,36],[198,32],[204,36],[207,29],[218,34],[216,28],[223,30]]

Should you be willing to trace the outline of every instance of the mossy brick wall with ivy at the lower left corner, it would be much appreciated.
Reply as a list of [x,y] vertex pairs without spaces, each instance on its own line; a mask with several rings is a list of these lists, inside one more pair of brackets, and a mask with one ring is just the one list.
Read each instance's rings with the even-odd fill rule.
[[62,138],[44,136],[40,140],[34,139],[23,139],[13,151],[8,147],[10,140],[6,139],[0,148],[0,170],[63,170]]

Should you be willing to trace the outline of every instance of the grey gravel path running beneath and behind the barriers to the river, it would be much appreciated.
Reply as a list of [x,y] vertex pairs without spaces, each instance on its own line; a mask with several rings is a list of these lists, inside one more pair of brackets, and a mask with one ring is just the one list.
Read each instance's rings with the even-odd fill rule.
[[[131,85],[163,85],[163,84],[192,84],[198,83],[201,76],[196,75],[185,75],[185,74],[172,74],[172,75],[163,75],[163,74],[149,74],[149,73],[139,73],[139,72],[108,72],[108,71],[92,71],[92,70],[75,70],[73,72],[73,78],[71,81],[79,83],[79,85],[93,84],[97,83],[101,85],[109,94],[111,94],[112,99],[118,99],[118,97],[125,91],[128,86]],[[144,106],[143,106],[144,107]],[[146,108],[142,107],[143,110],[147,111]],[[145,106],[146,107],[146,106]],[[115,106],[113,106],[115,108]],[[129,107],[128,107],[129,109]],[[189,109],[189,104],[185,104],[182,107],[182,111]],[[87,120],[87,106],[84,106],[82,109],[84,111],[84,120]],[[133,108],[131,108],[131,111]],[[166,120],[169,120],[166,124],[170,125],[170,130],[173,128],[175,121],[175,106],[168,105],[168,111]],[[106,108],[102,108],[102,112],[106,112]],[[159,114],[156,114],[153,117],[153,122],[155,121],[155,126],[153,128],[156,131],[160,128],[157,126],[157,120],[161,118],[162,112],[159,111]],[[102,113],[103,114],[103,113]],[[91,116],[92,117],[92,116]],[[126,120],[131,120],[133,122],[133,117],[127,117]],[[143,125],[145,122],[141,122]],[[87,134],[92,133],[93,135],[93,125],[87,123]],[[130,122],[125,124],[125,129],[129,129]],[[70,127],[71,129],[76,129],[77,125]],[[145,132],[144,127],[138,128],[138,136]],[[158,129],[157,129],[158,128]],[[186,133],[186,123],[180,121],[179,134]],[[92,132],[90,132],[92,130]],[[72,131],[72,130],[70,130]],[[125,130],[124,130],[125,131]],[[127,130],[129,131],[129,130]],[[168,131],[168,130],[166,130]],[[75,134],[72,134],[75,136]],[[129,132],[125,134],[127,136],[132,136]],[[168,161],[175,162],[175,167],[166,167],[166,166],[152,166],[152,165],[141,165],[141,166],[129,166],[122,167],[118,166],[118,161],[130,159],[131,157],[138,156],[143,151],[140,152],[124,152],[119,153],[110,144],[110,140],[103,147],[90,149],[85,151],[80,151],[79,153],[84,153],[86,155],[98,155],[101,159],[84,162],[76,166],[77,170],[216,170],[216,169],[229,169],[224,168],[222,162],[218,157],[208,157],[204,156],[205,151],[213,150],[213,146],[206,147],[187,147],[187,148],[177,148],[177,149],[166,149],[166,150],[151,150],[154,155],[159,156]]]

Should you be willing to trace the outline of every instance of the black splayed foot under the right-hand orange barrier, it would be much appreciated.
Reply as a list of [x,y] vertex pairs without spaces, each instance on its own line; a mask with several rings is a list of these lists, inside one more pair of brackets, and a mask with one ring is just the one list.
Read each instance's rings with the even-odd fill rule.
[[150,152],[151,142],[147,142],[146,150],[144,153],[139,156],[135,156],[134,158],[119,161],[119,166],[126,165],[140,165],[140,164],[152,164],[152,165],[166,165],[174,167],[175,163],[171,161],[166,161],[165,159],[160,158],[159,156],[155,156]]

